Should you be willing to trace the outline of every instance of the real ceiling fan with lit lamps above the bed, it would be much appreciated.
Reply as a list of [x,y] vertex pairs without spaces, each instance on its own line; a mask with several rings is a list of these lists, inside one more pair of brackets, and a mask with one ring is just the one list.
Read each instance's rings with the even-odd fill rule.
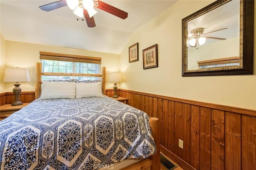
[[73,10],[74,14],[80,18],[85,18],[88,27],[95,27],[94,14],[97,13],[93,7],[106,11],[114,16],[122,18],[123,20],[128,17],[128,13],[124,12],[114,6],[106,4],[100,0],[59,0],[43,6],[39,6],[41,10],[51,11],[63,6],[68,6]]

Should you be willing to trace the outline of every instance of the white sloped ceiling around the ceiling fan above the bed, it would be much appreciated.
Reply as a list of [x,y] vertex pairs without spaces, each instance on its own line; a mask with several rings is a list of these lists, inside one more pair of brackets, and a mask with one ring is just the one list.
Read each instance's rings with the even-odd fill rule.
[[57,0],[0,0],[0,32],[6,40],[120,54],[130,36],[176,0],[102,0],[128,12],[122,20],[98,8],[88,28],[68,6],[49,12],[39,6]]

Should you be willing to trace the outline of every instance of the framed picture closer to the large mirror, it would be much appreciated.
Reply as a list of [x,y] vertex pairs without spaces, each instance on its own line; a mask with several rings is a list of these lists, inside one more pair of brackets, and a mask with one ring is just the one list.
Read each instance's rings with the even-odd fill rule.
[[143,69],[158,67],[157,44],[143,50]]

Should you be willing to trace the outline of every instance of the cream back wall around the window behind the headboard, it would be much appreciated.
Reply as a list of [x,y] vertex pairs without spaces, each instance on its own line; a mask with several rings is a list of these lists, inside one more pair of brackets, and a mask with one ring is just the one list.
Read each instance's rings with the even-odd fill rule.
[[[40,62],[39,51],[46,51],[52,53],[64,53],[72,55],[85,55],[92,57],[102,57],[102,66],[106,66],[107,80],[108,72],[119,71],[119,58],[120,55],[110,53],[99,53],[94,51],[86,51],[80,49],[71,49],[66,47],[54,47],[48,45],[39,45],[32,43],[22,43],[16,41],[6,41],[6,68],[28,68],[30,74],[30,82],[22,82],[20,87],[22,91],[34,91],[35,90],[35,72],[36,62]],[[1,50],[2,53],[2,50]],[[1,57],[2,58],[2,57]],[[1,67],[2,69],[2,67]],[[1,84],[3,84],[1,80]],[[14,88],[12,82],[5,83],[5,92],[12,92]],[[113,88],[112,83],[107,83],[106,88]]]

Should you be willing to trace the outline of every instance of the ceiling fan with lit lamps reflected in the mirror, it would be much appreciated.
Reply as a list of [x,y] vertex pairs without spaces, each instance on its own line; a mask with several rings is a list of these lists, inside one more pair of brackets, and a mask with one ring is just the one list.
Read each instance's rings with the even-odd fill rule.
[[208,37],[205,36],[206,34],[213,33],[216,31],[220,31],[223,29],[228,29],[228,28],[222,28],[222,29],[217,29],[215,31],[210,31],[208,33],[204,33],[204,28],[196,28],[192,29],[190,33],[188,33],[188,40],[187,40],[187,46],[189,47],[196,47],[198,49],[198,45],[203,45],[206,41],[206,38],[210,39],[218,39],[218,40],[225,40],[226,38],[218,38],[218,37]]

